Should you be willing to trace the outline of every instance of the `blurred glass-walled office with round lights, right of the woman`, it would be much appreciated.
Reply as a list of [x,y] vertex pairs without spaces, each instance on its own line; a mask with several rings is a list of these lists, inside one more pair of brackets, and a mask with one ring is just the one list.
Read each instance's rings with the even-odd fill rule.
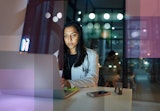
[[117,53],[123,87],[133,90],[133,100],[160,99],[159,5],[150,0],[68,2],[66,21],[82,24],[85,43],[97,51],[100,65],[111,50]]

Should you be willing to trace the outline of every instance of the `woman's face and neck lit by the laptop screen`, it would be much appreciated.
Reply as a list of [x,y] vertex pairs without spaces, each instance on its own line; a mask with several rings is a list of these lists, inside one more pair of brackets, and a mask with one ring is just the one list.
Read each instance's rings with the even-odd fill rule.
[[64,42],[69,48],[71,54],[76,54],[78,40],[79,34],[75,27],[69,26],[64,29]]

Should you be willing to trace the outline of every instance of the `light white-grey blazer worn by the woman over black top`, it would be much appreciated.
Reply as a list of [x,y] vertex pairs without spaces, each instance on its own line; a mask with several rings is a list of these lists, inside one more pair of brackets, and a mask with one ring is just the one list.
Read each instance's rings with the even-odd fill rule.
[[69,80],[71,87],[92,87],[97,86],[99,77],[98,55],[87,48],[87,56],[81,66],[71,69],[72,80]]

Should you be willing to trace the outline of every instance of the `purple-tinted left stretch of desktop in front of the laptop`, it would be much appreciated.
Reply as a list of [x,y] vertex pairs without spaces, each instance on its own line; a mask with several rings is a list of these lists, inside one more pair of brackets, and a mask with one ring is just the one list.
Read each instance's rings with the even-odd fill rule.
[[0,94],[0,111],[53,111],[53,99]]

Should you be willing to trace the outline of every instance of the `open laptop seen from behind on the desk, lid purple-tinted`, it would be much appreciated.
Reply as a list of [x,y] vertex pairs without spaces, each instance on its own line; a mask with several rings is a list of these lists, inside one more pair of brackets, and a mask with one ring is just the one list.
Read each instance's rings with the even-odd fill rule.
[[56,56],[0,51],[0,91],[22,96],[64,99],[79,91],[61,87]]

